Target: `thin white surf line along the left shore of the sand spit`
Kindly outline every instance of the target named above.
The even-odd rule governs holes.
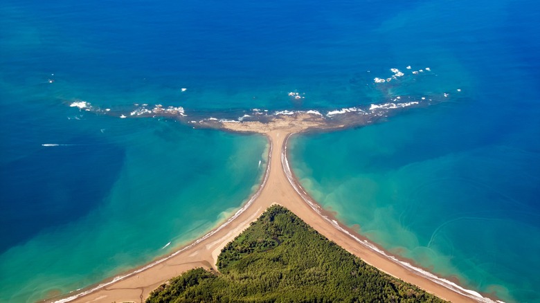
[[[179,253],[183,252],[184,250],[187,250],[189,248],[192,248],[193,246],[196,246],[197,244],[201,243],[202,241],[208,239],[208,237],[213,236],[216,232],[219,232],[219,230],[222,230],[223,228],[228,226],[237,217],[239,217],[240,214],[245,212],[253,204],[253,202],[260,196],[260,193],[264,189],[264,186],[267,184],[268,177],[270,175],[270,166],[271,166],[271,161],[272,161],[272,149],[273,149],[273,142],[272,142],[272,140],[270,138],[268,138],[268,142],[269,142],[268,164],[267,164],[267,170],[266,170],[266,172],[264,172],[263,181],[262,181],[261,185],[259,186],[257,192],[255,192],[255,194],[253,194],[253,196],[251,196],[249,201],[247,201],[247,203],[242,208],[240,208],[240,210],[237,210],[237,212],[235,212],[233,217],[227,219],[227,221],[225,221],[225,223],[223,223],[221,226],[217,227],[215,230],[212,230],[212,231],[208,232],[206,235],[204,235],[203,237],[200,237],[199,239],[195,240],[192,244],[190,244],[188,246],[184,246],[180,250],[177,250],[176,252],[173,252],[171,255],[168,255],[167,257],[163,257],[163,258],[161,258],[161,259],[159,259],[157,261],[154,261],[154,262],[152,262],[150,264],[147,264],[146,266],[138,268],[137,270],[134,270],[131,273],[127,273],[126,275],[116,276],[111,281],[105,282],[105,283],[102,283],[102,284],[98,284],[98,286],[90,288],[88,291],[83,291],[81,293],[71,295],[70,297],[64,297],[64,298],[62,298],[60,300],[56,300],[56,301],[54,301],[54,303],[71,302],[71,301],[73,301],[75,299],[78,299],[79,297],[83,297],[84,295],[89,295],[89,294],[91,294],[91,293],[93,293],[95,291],[99,291],[100,289],[105,288],[105,287],[107,287],[107,286],[109,286],[111,284],[114,284],[114,283],[120,281],[121,279],[125,279],[127,277],[132,277],[134,275],[137,275],[138,273],[142,273],[143,271],[145,271],[145,270],[147,270],[149,268],[152,268],[152,267],[154,267],[154,266],[156,266],[158,264],[161,264],[164,261],[167,261],[168,259],[178,255]],[[163,248],[165,248],[165,247],[163,247]],[[71,293],[73,293],[73,291],[71,291]]]

